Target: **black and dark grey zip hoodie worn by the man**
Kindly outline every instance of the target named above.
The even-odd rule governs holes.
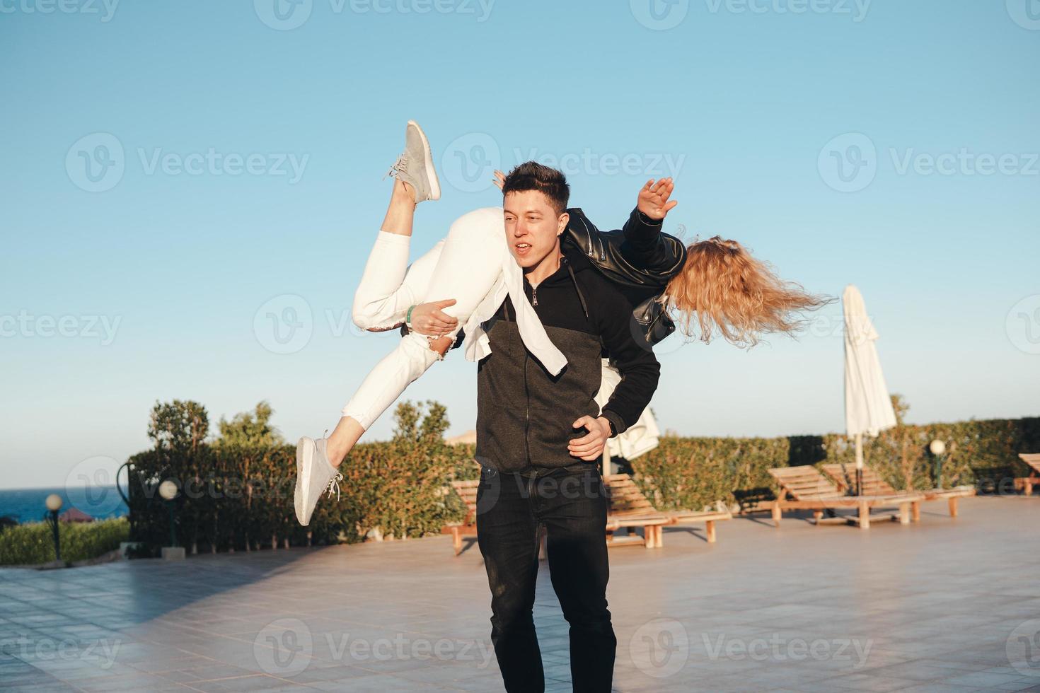
[[[564,244],[560,268],[524,292],[567,366],[552,376],[525,348],[516,311],[506,297],[485,327],[491,354],[477,366],[476,459],[499,472],[529,472],[580,463],[571,439],[588,434],[571,426],[603,416],[617,433],[634,424],[657,388],[660,366],[650,345],[630,327],[625,297],[580,249]],[[601,357],[622,375],[600,414]]]

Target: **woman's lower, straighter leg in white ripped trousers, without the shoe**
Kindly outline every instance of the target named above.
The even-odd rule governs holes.
[[[434,346],[449,345],[480,300],[494,288],[501,272],[502,252],[506,251],[504,243],[499,209],[476,210],[451,224],[425,295],[453,298],[456,303],[444,312],[458,318],[459,326],[442,338],[445,344]],[[425,336],[413,331],[402,338],[368,373],[343,407],[343,416],[329,436],[329,461],[338,467],[361,434],[440,356]]]

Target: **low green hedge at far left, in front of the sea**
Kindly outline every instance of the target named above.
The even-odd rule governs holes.
[[[61,560],[66,562],[97,558],[114,551],[130,535],[126,517],[59,525]],[[0,565],[35,565],[54,559],[54,535],[49,523],[27,523],[0,532]]]

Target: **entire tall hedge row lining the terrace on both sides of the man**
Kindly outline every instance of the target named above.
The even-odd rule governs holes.
[[[900,425],[864,442],[864,459],[896,488],[936,485],[928,445],[946,443],[943,484],[979,484],[983,492],[1010,489],[1022,476],[1017,453],[1040,451],[1040,419],[968,421],[924,426],[903,424],[907,407],[895,397]],[[340,468],[340,496],[322,499],[309,527],[292,508],[295,446],[272,434],[269,407],[256,419],[222,422],[224,435],[206,442],[205,409],[193,402],[157,405],[150,435],[154,449],[131,458],[131,538],[156,555],[168,543],[166,505],[158,483],[182,486],[175,501],[176,533],[189,553],[255,551],[287,545],[406,539],[439,534],[465,516],[452,479],[475,479],[473,445],[448,446],[444,407],[425,411],[406,402],[395,411],[393,439],[357,446]],[[773,498],[773,467],[853,462],[843,435],[707,438],[665,435],[653,451],[632,460],[635,480],[661,510],[700,509],[716,501]]]

